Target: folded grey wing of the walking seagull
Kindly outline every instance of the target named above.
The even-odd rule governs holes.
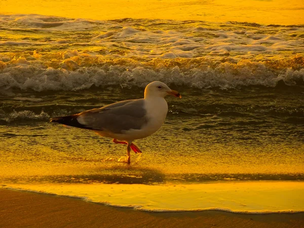
[[[144,99],[125,100],[79,113],[78,122],[99,131],[122,133],[147,123]]]

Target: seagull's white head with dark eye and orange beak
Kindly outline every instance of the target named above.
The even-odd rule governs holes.
[[[175,91],[171,90],[165,83],[162,82],[151,82],[148,84],[144,90],[144,97],[165,97],[171,95],[174,97],[181,98],[181,95]]]

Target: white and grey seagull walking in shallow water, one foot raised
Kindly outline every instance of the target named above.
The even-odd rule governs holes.
[[[167,95],[181,98],[177,91],[155,81],[146,86],[144,98],[119,101],[75,115],[53,118],[50,122],[92,130],[100,136],[112,138],[114,143],[127,144],[126,160],[130,164],[131,149],[141,153],[133,141],[150,136],[163,125],[168,112]]]

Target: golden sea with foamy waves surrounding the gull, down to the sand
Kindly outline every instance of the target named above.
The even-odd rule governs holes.
[[[304,25],[0,15],[0,186],[137,210],[304,211]],[[143,97],[126,145],[49,119]]]

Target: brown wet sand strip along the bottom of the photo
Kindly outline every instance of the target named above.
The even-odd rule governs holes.
[[[147,213],[0,189],[0,227],[303,227],[304,214]]]

